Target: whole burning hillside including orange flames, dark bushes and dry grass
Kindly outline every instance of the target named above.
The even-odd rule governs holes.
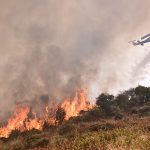
[[[150,149],[150,87],[101,93],[92,108],[86,90],[62,103],[40,99],[40,113],[35,103],[16,106],[0,128],[0,149]]]

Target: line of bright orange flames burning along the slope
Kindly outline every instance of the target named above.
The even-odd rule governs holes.
[[[77,116],[81,110],[88,110],[91,106],[87,100],[87,90],[80,90],[76,92],[73,100],[65,99],[60,106],[66,111],[66,120],[72,116]],[[50,104],[45,107],[44,116],[38,118],[35,112],[33,118],[29,117],[29,106],[17,106],[14,115],[8,119],[7,125],[0,128],[0,137],[8,138],[13,130],[20,132],[29,131],[32,129],[42,130],[44,122],[48,124],[55,123],[55,112],[58,104]]]

